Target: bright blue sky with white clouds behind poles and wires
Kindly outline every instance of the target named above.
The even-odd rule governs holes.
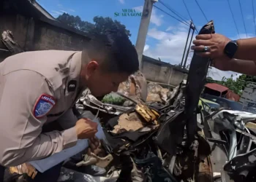
[[[244,21],[241,15],[239,0],[229,0],[233,11],[238,31],[233,22],[233,17],[227,4],[227,0],[197,0],[206,18],[203,16],[200,8],[195,0],[184,0],[189,8],[189,13],[197,27],[197,30],[208,20],[214,20],[217,33],[222,33],[230,39],[246,38],[247,36],[255,36],[254,17],[252,12],[252,0],[240,0],[241,9],[244,14]],[[70,15],[78,15],[82,20],[93,22],[94,16],[112,17],[114,20],[120,21],[126,25],[131,31],[131,41],[135,44],[140,25],[140,16],[115,16],[115,12],[122,12],[122,9],[134,9],[135,12],[141,12],[143,8],[143,0],[38,0],[51,15],[58,17],[63,12]],[[182,0],[162,0],[164,4],[175,9],[187,20],[190,20],[184,3]],[[169,9],[159,2],[155,3],[157,7],[165,12],[173,15]],[[256,5],[256,1],[255,1]],[[255,9],[256,10],[256,9]],[[148,28],[146,46],[144,54],[153,58],[160,58],[162,61],[178,64],[181,63],[185,42],[187,39],[188,27],[178,22],[165,12],[154,8],[151,15],[151,23]],[[176,15],[174,15],[176,16]],[[246,31],[244,29],[246,25]],[[238,34],[239,33],[239,34]],[[191,58],[192,52],[189,55]],[[188,62],[189,63],[189,62]],[[211,71],[215,79],[221,79],[222,76],[229,77],[231,72],[223,72],[214,69]]]

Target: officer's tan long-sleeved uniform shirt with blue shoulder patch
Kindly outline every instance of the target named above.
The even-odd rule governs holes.
[[[0,164],[20,165],[75,146],[81,52],[35,51],[0,63]],[[64,131],[41,133],[59,119]]]

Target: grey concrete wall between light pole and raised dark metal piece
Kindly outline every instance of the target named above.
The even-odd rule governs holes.
[[[177,86],[183,79],[187,79],[187,71],[168,63],[143,56],[142,72],[146,79]]]

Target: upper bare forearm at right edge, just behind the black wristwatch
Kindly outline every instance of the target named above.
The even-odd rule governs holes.
[[[256,60],[256,38],[238,39],[238,50],[234,58],[241,60]]]

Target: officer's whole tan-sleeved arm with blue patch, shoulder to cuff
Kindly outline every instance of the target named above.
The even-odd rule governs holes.
[[[44,77],[33,71],[15,71],[0,84],[1,165],[20,165],[75,146],[75,127],[41,133],[46,111],[55,105],[54,93]]]

